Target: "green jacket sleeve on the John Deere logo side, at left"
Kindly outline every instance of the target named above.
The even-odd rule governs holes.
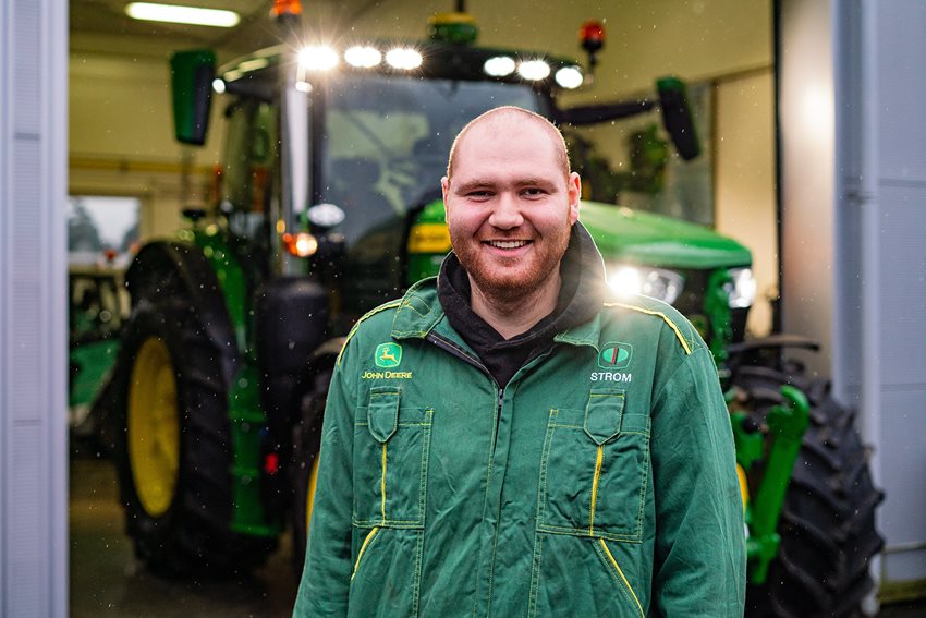
[[[334,368],[325,408],[308,547],[293,609],[293,616],[300,618],[348,613],[356,396],[345,383],[345,374],[352,375],[346,356],[343,354]]]

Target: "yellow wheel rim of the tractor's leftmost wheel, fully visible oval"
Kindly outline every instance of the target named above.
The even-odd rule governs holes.
[[[170,508],[180,469],[180,414],[170,352],[156,337],[135,356],[129,387],[129,463],[142,508],[160,517]]]

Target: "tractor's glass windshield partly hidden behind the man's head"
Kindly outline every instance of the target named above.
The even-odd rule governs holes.
[[[329,82],[316,199],[344,209],[348,246],[439,197],[453,137],[502,105],[547,111],[526,84],[385,75]]]

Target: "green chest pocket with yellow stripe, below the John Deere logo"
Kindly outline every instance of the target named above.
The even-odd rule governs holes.
[[[357,410],[354,525],[424,528],[434,410],[401,399],[399,387],[377,386]]]

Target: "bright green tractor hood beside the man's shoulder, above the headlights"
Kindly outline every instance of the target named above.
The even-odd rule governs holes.
[[[695,269],[752,264],[750,250],[705,226],[600,202],[582,202],[580,220],[606,262]]]

